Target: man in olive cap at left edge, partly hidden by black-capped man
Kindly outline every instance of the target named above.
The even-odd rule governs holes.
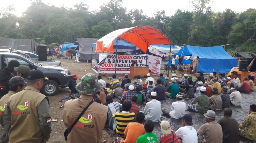
[[[1,99],[0,99],[0,124],[2,126],[3,125],[3,117],[4,117],[4,111],[5,111],[5,108],[7,107],[7,102],[9,100],[9,98],[15,94],[15,93],[18,93],[20,91],[22,91],[25,86],[27,85],[27,82],[25,82],[25,80],[22,78],[22,77],[12,77],[9,81],[9,93],[7,93],[6,95],[4,95]],[[1,131],[3,134],[2,136],[0,137],[0,143],[7,143],[8,140],[7,140],[7,135],[5,130],[2,129]]]

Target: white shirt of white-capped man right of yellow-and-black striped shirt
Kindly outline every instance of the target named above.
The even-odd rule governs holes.
[[[161,102],[152,99],[150,102],[146,103],[143,113],[145,114],[145,120],[151,120],[153,122],[160,121]]]

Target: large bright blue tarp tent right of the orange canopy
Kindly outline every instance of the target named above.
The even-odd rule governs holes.
[[[213,71],[228,73],[231,68],[237,65],[238,61],[238,59],[230,56],[222,46],[198,47],[186,45],[176,55],[199,56],[201,62],[198,62],[197,72],[203,73]]]

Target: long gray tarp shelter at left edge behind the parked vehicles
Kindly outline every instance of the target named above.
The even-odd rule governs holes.
[[[0,49],[16,49],[23,51],[34,51],[34,39],[11,39],[0,37]]]

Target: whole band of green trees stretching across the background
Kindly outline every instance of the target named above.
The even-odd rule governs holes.
[[[228,51],[256,52],[256,10],[236,13],[230,9],[214,13],[211,0],[189,0],[193,11],[178,9],[173,15],[164,10],[148,17],[142,9],[122,6],[124,0],[109,0],[98,9],[80,2],[73,8],[56,7],[42,0],[31,5],[21,17],[10,5],[0,10],[0,37],[41,38],[38,43],[75,41],[74,37],[101,38],[120,29],[150,25],[165,33],[174,44],[216,46],[232,43]]]

